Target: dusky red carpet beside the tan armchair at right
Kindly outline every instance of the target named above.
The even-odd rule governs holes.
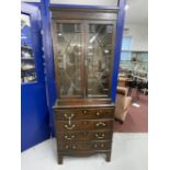
[[[115,122],[114,132],[122,133],[147,133],[148,132],[148,95],[139,94],[136,102],[139,107],[131,105],[129,112],[123,124]]]

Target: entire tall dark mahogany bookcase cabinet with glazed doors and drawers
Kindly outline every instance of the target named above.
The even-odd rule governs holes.
[[[116,12],[52,8],[58,163],[64,156],[93,154],[111,160]]]

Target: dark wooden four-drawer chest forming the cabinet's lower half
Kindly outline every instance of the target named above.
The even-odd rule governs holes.
[[[105,154],[111,159],[114,106],[55,106],[58,163],[64,156]]]

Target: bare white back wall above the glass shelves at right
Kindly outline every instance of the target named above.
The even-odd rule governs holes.
[[[124,35],[133,37],[132,50],[148,52],[148,26],[144,24],[126,24]]]

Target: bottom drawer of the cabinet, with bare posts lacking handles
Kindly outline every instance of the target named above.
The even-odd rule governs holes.
[[[92,150],[110,150],[111,141],[76,141],[76,143],[58,143],[59,151],[92,151]]]

